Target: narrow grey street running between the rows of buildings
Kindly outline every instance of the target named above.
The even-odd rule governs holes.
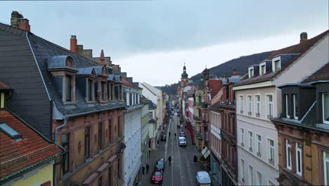
[[[165,133],[167,135],[167,142],[160,141],[156,151],[151,151],[149,165],[150,170],[143,175],[142,185],[153,185],[151,183],[151,174],[157,159],[172,157],[172,165],[169,166],[167,161],[164,168],[164,178],[162,185],[164,186],[178,186],[178,185],[196,185],[195,175],[200,170],[198,164],[193,163],[193,156],[201,155],[191,142],[191,136],[186,134],[187,147],[179,147],[179,129],[176,128],[179,123],[177,113],[174,113],[173,118],[166,125]],[[171,133],[169,137],[169,132]],[[174,133],[176,132],[176,139]],[[186,133],[186,129],[184,128]],[[144,165],[145,166],[145,165]]]

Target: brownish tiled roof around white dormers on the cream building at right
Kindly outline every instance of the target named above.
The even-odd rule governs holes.
[[[326,30],[325,32],[321,33],[320,35],[317,35],[316,37],[313,37],[311,39],[307,39],[304,42],[301,42],[299,44],[295,44],[292,46],[285,47],[283,49],[279,49],[276,51],[273,51],[269,57],[266,58],[266,60],[271,60],[272,58],[275,58],[276,56],[279,56],[281,54],[290,54],[289,60],[285,61],[285,65],[281,64],[281,69],[278,70],[278,72],[273,73],[272,69],[269,69],[266,71],[264,75],[254,75],[254,77],[247,78],[245,77],[243,80],[238,82],[236,86],[240,85],[250,85],[252,83],[257,82],[264,82],[267,80],[272,80],[274,77],[277,77],[282,73],[286,68],[288,68],[292,63],[297,61],[297,59],[302,56],[306,51],[308,51],[312,46],[314,46],[317,42],[319,42],[321,39],[323,39],[326,35],[329,34],[329,30]],[[258,61],[255,61],[258,62]],[[262,61],[261,61],[262,62]]]

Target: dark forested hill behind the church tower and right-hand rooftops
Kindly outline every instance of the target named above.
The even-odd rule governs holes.
[[[218,66],[214,66],[209,68],[210,77],[225,77],[232,75],[233,69],[236,69],[238,75],[243,75],[247,73],[248,67],[253,64],[258,64],[260,61],[266,59],[272,51],[266,51],[259,54],[252,54],[250,56],[240,56],[239,58],[233,58],[230,61],[226,61],[225,63],[221,63]],[[190,77],[190,80],[193,80],[191,85],[198,85],[199,88],[202,88],[202,72],[197,75],[193,75]],[[160,87],[166,94],[172,95],[176,94],[176,89],[179,86],[179,83],[174,83],[172,85],[166,85],[164,87]]]

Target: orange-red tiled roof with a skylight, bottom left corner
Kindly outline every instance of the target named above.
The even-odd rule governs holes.
[[[15,141],[0,130],[0,181],[11,178],[20,171],[34,168],[36,163],[62,152],[62,149],[45,140],[10,112],[0,110],[0,119],[22,135],[22,140]]]

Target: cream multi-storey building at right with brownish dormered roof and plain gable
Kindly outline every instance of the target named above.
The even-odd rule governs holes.
[[[273,51],[266,60],[250,66],[244,80],[233,87],[240,185],[279,184],[278,131],[270,120],[282,111],[278,85],[301,81],[321,68],[328,63],[326,51],[328,31],[311,39],[302,33],[299,44]]]

